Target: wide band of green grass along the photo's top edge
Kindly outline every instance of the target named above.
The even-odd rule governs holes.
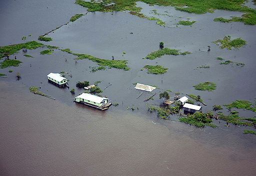
[[[100,2],[91,0],[75,0],[79,4],[87,8],[87,11],[130,11],[137,16],[141,15],[140,7],[136,7],[138,0],[102,0]],[[215,9],[240,11],[244,12],[240,19],[244,24],[256,24],[256,10],[243,5],[244,0],[140,0],[149,5],[164,5],[174,6],[177,10],[186,11],[189,13],[202,14],[206,12],[213,12]],[[112,3],[112,4],[110,4]]]

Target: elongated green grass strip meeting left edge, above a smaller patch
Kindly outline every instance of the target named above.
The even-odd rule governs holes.
[[[17,53],[20,49],[23,49],[23,48],[36,49],[41,46],[43,46],[43,44],[38,43],[36,41],[28,41],[26,43],[2,46],[2,47],[0,47],[0,55],[1,55],[1,57],[3,57],[6,54],[11,55],[11,54]]]

